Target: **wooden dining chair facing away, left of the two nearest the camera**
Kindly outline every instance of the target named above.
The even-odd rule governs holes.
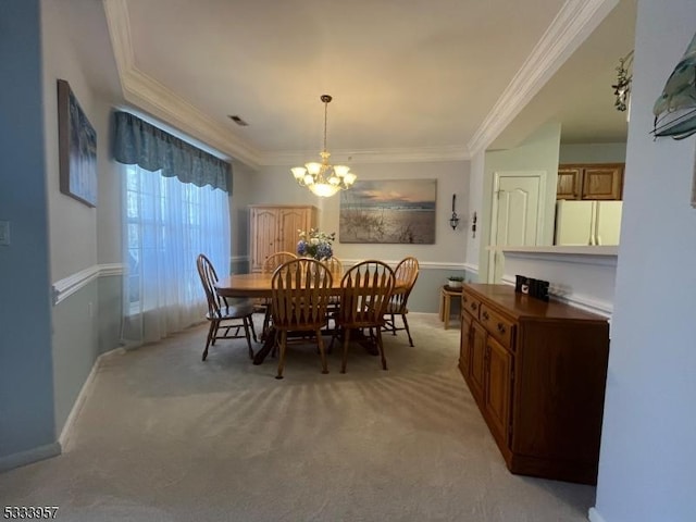
[[[294,259],[273,272],[271,313],[276,344],[281,351],[275,378],[283,378],[289,332],[314,335],[322,360],[322,373],[328,373],[321,331],[328,323],[326,310],[332,285],[331,272],[314,259]]]

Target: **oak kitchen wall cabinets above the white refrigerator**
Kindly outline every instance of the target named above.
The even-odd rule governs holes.
[[[559,165],[556,199],[620,200],[623,169],[623,163]]]

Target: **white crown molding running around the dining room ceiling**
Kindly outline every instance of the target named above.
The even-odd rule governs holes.
[[[409,149],[334,151],[353,164],[465,161],[481,152],[508,126],[560,65],[597,27],[619,0],[568,0],[522,67],[514,75],[469,144]],[[302,162],[311,152],[262,152],[233,135],[206,113],[135,65],[127,0],[103,0],[109,35],[123,96],[191,137],[253,170]]]

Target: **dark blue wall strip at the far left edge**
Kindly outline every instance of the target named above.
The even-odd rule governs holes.
[[[0,469],[54,433],[39,0],[0,0]],[[34,460],[34,459],[29,459]]]

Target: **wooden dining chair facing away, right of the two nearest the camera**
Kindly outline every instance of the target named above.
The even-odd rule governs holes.
[[[344,274],[340,281],[340,307],[336,315],[337,328],[332,337],[332,345],[338,333],[344,338],[340,373],[346,373],[351,331],[369,331],[371,340],[380,349],[382,369],[387,369],[382,330],[385,324],[384,312],[394,291],[395,281],[391,268],[376,260],[362,261]]]

